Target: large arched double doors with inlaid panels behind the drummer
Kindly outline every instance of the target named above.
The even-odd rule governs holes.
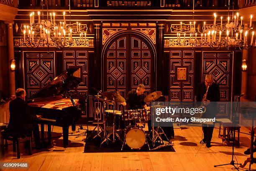
[[[120,33],[103,49],[103,89],[126,97],[131,89],[144,84],[145,93],[155,89],[155,51],[138,33]],[[118,104],[116,109],[121,109]]]

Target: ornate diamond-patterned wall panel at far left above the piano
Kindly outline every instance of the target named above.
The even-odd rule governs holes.
[[[23,51],[24,88],[31,97],[55,77],[55,53]]]

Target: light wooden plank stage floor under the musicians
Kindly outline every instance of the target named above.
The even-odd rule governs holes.
[[[230,163],[232,157],[232,147],[222,144],[217,128],[214,129],[210,148],[216,153],[202,147],[197,156],[195,154],[200,148],[202,128],[189,127],[174,131],[176,152],[83,153],[82,140],[85,137],[69,136],[68,148],[62,148],[61,138],[56,138],[52,140],[52,147],[33,150],[32,156],[27,155],[28,151],[22,144],[20,159],[16,159],[16,153],[12,152],[12,145],[9,145],[8,151],[1,156],[1,161],[29,163],[28,169],[17,169],[18,171],[232,171],[231,165],[214,168],[214,165]],[[53,132],[54,135],[61,135],[61,128],[54,127]],[[248,130],[241,128],[241,132],[248,133]],[[235,148],[234,160],[243,163],[249,157],[243,151],[249,147],[250,136],[240,133],[240,141],[240,147]],[[249,164],[246,165],[247,169],[248,167]],[[256,169],[256,164],[252,168]]]

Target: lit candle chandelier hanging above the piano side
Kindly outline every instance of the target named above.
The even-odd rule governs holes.
[[[46,4],[48,4],[47,0]],[[81,26],[81,24],[78,22],[71,24],[70,20],[69,24],[67,24],[65,12],[63,12],[63,20],[59,20],[60,22],[57,23],[55,20],[55,13],[50,13],[49,16],[48,5],[46,16],[47,19],[45,20],[43,0],[41,1],[41,5],[42,15],[40,11],[37,12],[37,22],[35,21],[35,13],[32,12],[29,15],[30,24],[23,26],[23,45],[33,48],[37,48],[38,46],[56,46],[58,48],[63,48],[65,46],[72,46],[73,44],[76,46],[86,45],[86,25]],[[69,17],[70,16],[71,12],[69,5]]]

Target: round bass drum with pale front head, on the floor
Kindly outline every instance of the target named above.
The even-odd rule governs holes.
[[[141,149],[146,143],[146,134],[141,127],[132,125],[125,131],[125,142],[131,149]]]

